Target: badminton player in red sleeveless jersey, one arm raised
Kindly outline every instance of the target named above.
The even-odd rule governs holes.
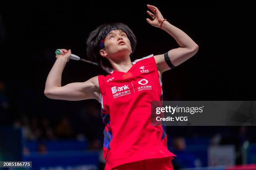
[[[165,126],[151,125],[151,101],[163,100],[161,74],[188,60],[198,45],[182,30],[170,24],[159,9],[147,5],[152,20],[147,22],[174,37],[180,47],[161,55],[148,55],[131,62],[136,37],[123,23],[100,25],[87,39],[87,55],[107,76],[61,87],[61,74],[71,50],[61,49],[46,80],[45,95],[51,99],[96,99],[101,103],[105,123],[103,156],[105,170],[172,170],[173,153],[167,150]]]

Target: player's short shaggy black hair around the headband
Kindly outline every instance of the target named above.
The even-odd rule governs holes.
[[[104,23],[90,32],[90,35],[86,41],[88,58],[94,62],[97,62],[100,67],[108,67],[109,69],[113,69],[113,67],[107,58],[100,55],[100,41],[104,39],[113,28],[122,30],[126,33],[131,42],[132,53],[130,56],[132,56],[136,48],[137,40],[133,31],[123,23]]]

